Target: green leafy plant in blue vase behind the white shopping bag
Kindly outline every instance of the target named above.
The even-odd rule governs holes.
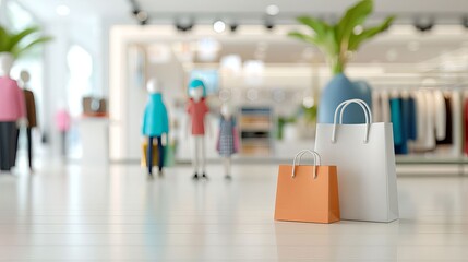
[[[395,16],[386,17],[381,24],[364,27],[364,22],[373,11],[373,0],[361,0],[349,8],[335,24],[321,19],[300,16],[298,22],[311,29],[310,34],[290,32],[289,36],[316,46],[326,57],[333,79],[322,92],[317,121],[332,123],[335,108],[339,103],[360,98],[371,105],[371,90],[367,84],[352,83],[345,74],[345,69],[351,55],[367,40],[386,31]],[[353,111],[345,115],[348,123],[362,122],[362,114]]]

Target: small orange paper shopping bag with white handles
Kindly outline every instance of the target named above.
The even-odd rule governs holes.
[[[300,166],[305,153],[313,155],[313,166]],[[279,166],[276,221],[314,223],[339,221],[336,166],[321,166],[320,163],[316,152],[303,150],[296,155],[292,166]]]

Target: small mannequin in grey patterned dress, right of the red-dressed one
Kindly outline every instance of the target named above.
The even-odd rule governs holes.
[[[227,104],[221,106],[221,117],[219,121],[219,135],[217,151],[224,158],[225,178],[231,179],[231,156],[239,151],[239,136],[236,128],[236,118],[231,108]]]

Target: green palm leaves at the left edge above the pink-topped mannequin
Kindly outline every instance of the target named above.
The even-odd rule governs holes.
[[[52,39],[41,36],[39,31],[39,27],[29,27],[13,33],[0,25],[0,53],[8,53],[14,59],[19,59],[32,48]]]

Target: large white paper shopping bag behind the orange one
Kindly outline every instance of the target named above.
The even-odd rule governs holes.
[[[341,124],[343,114],[350,104],[361,106],[365,123]],[[315,151],[324,159],[323,165],[337,166],[341,219],[398,218],[392,123],[373,123],[365,102],[346,100],[336,108],[333,124],[319,123]]]

